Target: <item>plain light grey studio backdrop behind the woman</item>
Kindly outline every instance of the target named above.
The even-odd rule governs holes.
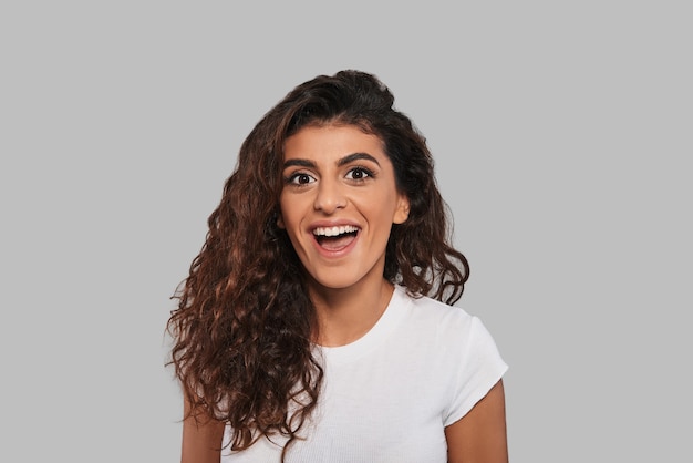
[[[0,461],[177,461],[169,297],[251,127],[348,68],[434,153],[510,460],[691,461],[687,3],[404,3],[0,6]]]

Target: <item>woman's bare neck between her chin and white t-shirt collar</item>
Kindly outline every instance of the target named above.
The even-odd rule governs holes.
[[[387,308],[393,290],[385,279],[342,289],[311,287],[310,298],[318,318],[316,343],[345,346],[364,336]]]

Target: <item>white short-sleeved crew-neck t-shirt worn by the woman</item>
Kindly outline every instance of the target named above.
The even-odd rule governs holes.
[[[318,347],[324,385],[287,463],[445,463],[444,428],[463,418],[507,364],[478,318],[395,287],[375,326],[342,347]],[[225,443],[229,439],[229,429]],[[279,463],[281,438],[221,463]]]

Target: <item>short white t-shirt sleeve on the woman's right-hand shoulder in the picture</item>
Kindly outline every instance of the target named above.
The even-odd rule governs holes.
[[[453,361],[449,405],[444,411],[443,424],[453,424],[462,419],[503,378],[508,366],[500,357],[495,340],[477,317],[456,336],[457,348],[451,349]]]

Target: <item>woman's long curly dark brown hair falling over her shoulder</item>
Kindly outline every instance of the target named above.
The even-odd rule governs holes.
[[[393,103],[372,74],[319,75],[265,114],[240,147],[167,323],[174,339],[169,364],[189,413],[230,424],[232,450],[281,435],[288,439],[286,454],[300,439],[323,380],[301,263],[277,226],[287,137],[325,124],[354,125],[380,137],[396,186],[410,200],[407,220],[391,232],[384,278],[414,297],[453,305],[462,296],[469,266],[451,245],[452,224],[431,153]]]

